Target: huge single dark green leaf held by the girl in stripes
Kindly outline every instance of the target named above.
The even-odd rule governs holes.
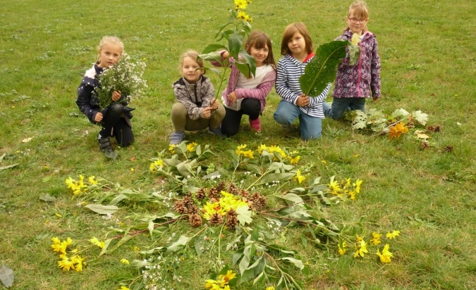
[[[299,78],[301,91],[306,96],[319,96],[329,82],[336,79],[337,65],[346,57],[348,41],[335,40],[322,44]]]

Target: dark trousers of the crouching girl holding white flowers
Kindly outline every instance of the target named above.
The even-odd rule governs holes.
[[[130,121],[123,116],[123,112],[124,106],[120,103],[112,103],[102,118],[102,129],[99,134],[102,137],[112,137],[112,133],[119,146],[127,147],[133,143],[134,134]]]

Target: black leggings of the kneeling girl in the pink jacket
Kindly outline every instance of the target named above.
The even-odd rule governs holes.
[[[236,135],[240,129],[241,117],[249,115],[250,120],[260,118],[261,103],[258,99],[243,99],[241,101],[241,110],[234,111],[226,108],[225,118],[221,121],[221,132],[227,137]]]

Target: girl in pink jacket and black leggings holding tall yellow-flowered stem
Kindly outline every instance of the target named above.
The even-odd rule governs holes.
[[[266,97],[276,80],[276,65],[269,36],[254,31],[245,42],[245,50],[255,58],[255,75],[245,76],[235,65],[231,67],[228,86],[221,95],[226,114],[221,122],[221,132],[230,137],[240,129],[241,117],[248,115],[252,130],[261,132],[260,115],[266,106]],[[229,58],[228,51],[221,53]]]

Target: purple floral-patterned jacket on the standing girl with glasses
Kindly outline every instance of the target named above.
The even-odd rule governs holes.
[[[352,39],[347,30],[337,39]],[[355,65],[348,65],[349,56],[338,65],[334,98],[373,98],[380,97],[380,58],[377,39],[370,31],[364,33],[359,42],[360,58]],[[370,94],[372,91],[372,94]]]

